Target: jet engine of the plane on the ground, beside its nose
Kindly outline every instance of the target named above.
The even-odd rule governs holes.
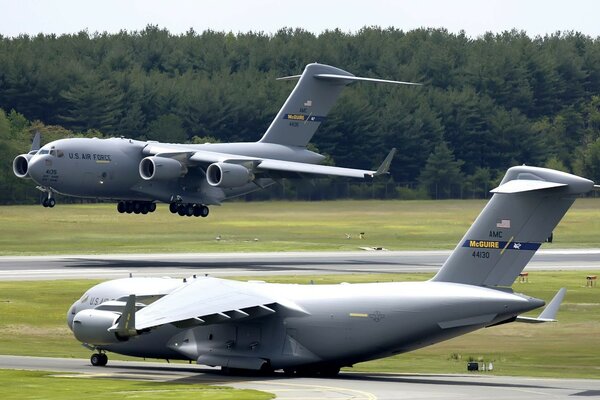
[[[82,343],[103,345],[122,342],[121,338],[108,328],[117,323],[121,314],[93,308],[79,311],[73,318],[73,334]]]

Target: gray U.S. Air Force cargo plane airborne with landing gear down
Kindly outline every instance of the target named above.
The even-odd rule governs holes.
[[[319,165],[324,156],[306,148],[342,89],[353,82],[416,83],[361,78],[309,64],[262,138],[254,143],[169,144],[125,138],[61,139],[18,155],[13,172],[47,193],[118,200],[120,213],[147,214],[156,202],[181,216],[208,215],[209,205],[272,185],[282,177],[370,178],[387,173],[395,149],[374,171]]]

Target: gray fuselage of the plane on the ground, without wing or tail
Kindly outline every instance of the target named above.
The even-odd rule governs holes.
[[[215,278],[197,278],[215,279]],[[70,308],[77,313],[94,299],[114,300],[161,280],[129,278],[105,282]],[[193,281],[191,279],[190,281]],[[181,281],[180,281],[181,282]],[[188,283],[181,283],[186,285]],[[253,368],[269,360],[274,369],[307,365],[350,366],[425,347],[541,307],[544,302],[506,291],[443,282],[287,285],[248,282],[249,288],[285,297],[307,314],[277,310],[247,321],[178,328],[163,325],[126,342],[98,349],[137,357],[194,360],[207,365]],[[474,301],[476,300],[476,301]],[[109,324],[111,324],[109,322]],[[105,329],[108,328],[105,327]],[[104,331],[104,330],[103,330]],[[92,335],[98,335],[95,331]],[[103,334],[100,334],[103,335]],[[75,332],[83,342],[97,337]],[[110,340],[110,339],[109,339]],[[256,363],[256,364],[254,364]]]

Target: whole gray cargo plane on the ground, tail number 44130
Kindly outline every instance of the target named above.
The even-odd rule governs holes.
[[[555,320],[511,285],[593,182],[527,166],[509,169],[450,257],[427,282],[290,285],[212,277],[125,278],[89,289],[67,312],[75,337],[107,351],[229,369],[335,375],[480,328]]]

